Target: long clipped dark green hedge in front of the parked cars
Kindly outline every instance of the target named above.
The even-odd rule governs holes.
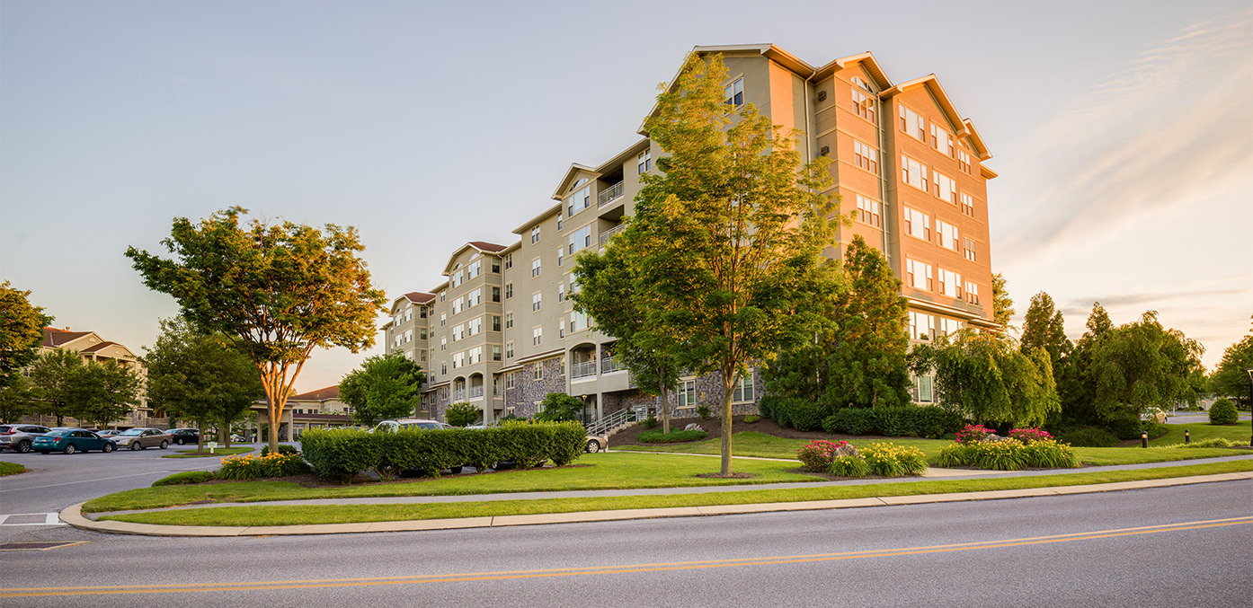
[[[365,470],[392,479],[415,470],[437,477],[441,470],[470,465],[484,470],[499,462],[539,467],[548,460],[563,467],[586,445],[579,423],[507,423],[486,429],[367,433],[346,429],[311,429],[301,435],[304,460],[326,479],[351,480]]]

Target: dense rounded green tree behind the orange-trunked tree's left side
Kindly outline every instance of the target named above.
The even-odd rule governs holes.
[[[162,319],[153,348],[144,347],[148,400],[172,417],[195,420],[204,429],[218,427],[218,439],[231,445],[231,425],[242,418],[264,390],[252,360],[222,334],[198,332],[187,319]]]

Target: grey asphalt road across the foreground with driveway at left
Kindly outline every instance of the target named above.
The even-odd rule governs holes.
[[[79,502],[83,488],[98,484],[139,487],[170,470],[212,465],[152,452],[127,463],[135,477],[107,479],[120,475],[101,470],[95,482],[60,485],[56,492],[75,493],[60,502]],[[94,455],[43,457],[50,458],[79,465]],[[30,492],[54,490],[40,487],[54,480],[31,483],[40,474],[16,479],[28,475]],[[3,479],[8,505],[21,492],[9,492],[15,478]],[[26,539],[83,544],[0,553],[0,604],[1253,605],[1250,482],[323,537],[153,538],[59,528],[29,527]]]

